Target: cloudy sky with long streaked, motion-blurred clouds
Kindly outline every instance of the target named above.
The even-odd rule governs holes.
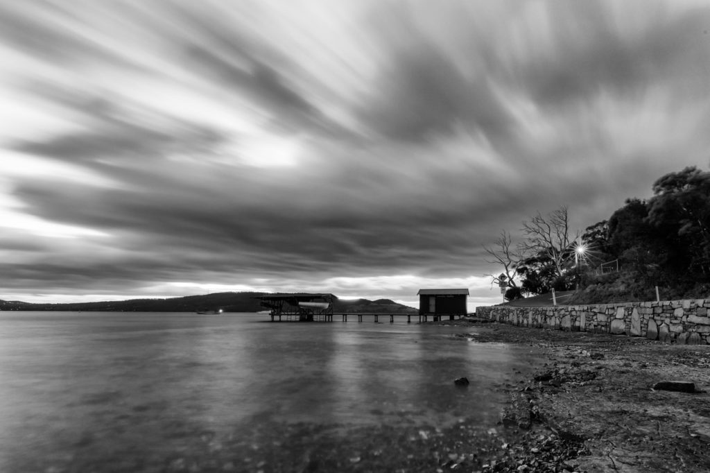
[[[483,246],[710,165],[710,2],[0,0],[0,299],[502,301]]]

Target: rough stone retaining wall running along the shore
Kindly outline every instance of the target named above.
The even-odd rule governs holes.
[[[547,307],[492,305],[476,308],[476,317],[522,327],[626,334],[665,343],[708,344],[709,308],[710,299]]]

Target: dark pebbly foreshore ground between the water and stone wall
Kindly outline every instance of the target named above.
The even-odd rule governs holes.
[[[460,325],[462,342],[526,344],[547,358],[533,379],[505,387],[508,443],[474,471],[710,472],[710,345],[440,323]],[[695,392],[653,390],[659,381],[691,381]]]

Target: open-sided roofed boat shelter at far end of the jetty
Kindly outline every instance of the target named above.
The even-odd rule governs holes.
[[[329,293],[277,293],[257,297],[261,307],[269,310],[271,321],[300,320],[333,320],[333,298]]]

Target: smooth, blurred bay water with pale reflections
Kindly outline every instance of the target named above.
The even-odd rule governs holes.
[[[530,363],[461,327],[266,320],[1,312],[0,471],[327,471],[326,450],[356,469],[364,442],[495,425]]]

